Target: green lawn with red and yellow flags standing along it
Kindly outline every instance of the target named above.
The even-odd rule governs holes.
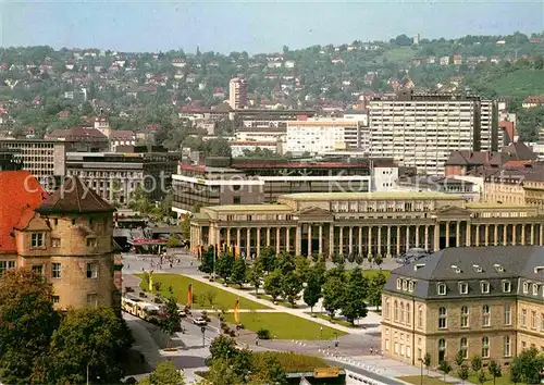
[[[143,278],[143,274],[136,274],[138,277]],[[194,309],[210,309],[211,306],[208,301],[202,303],[201,299],[203,299],[203,294],[206,291],[211,291],[215,294],[215,298],[213,301],[213,306],[215,308],[225,307],[226,310],[232,310],[234,305],[236,303],[237,296],[235,294],[222,290],[218,287],[205,284],[200,281],[195,281],[184,275],[180,274],[153,274],[153,283],[161,283],[161,291],[160,294],[164,297],[170,295],[169,287],[172,287],[172,291],[174,293],[174,297],[177,299],[180,303],[187,303],[187,290],[189,284],[193,284],[193,308]],[[144,281],[140,283],[140,288],[147,289],[144,287]],[[239,297],[239,308],[240,309],[270,309],[269,307],[254,302],[249,299]]]

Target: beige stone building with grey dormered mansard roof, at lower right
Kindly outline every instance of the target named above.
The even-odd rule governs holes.
[[[445,249],[392,275],[382,294],[382,351],[422,365],[460,351],[506,365],[544,350],[544,248]]]

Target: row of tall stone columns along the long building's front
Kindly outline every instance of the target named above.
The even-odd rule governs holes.
[[[543,245],[544,239],[544,225],[539,224],[471,224],[467,221],[445,221],[441,223],[445,225],[444,240],[445,247],[455,246],[507,246],[518,244],[518,226],[521,226],[521,237],[519,239],[520,245],[535,245],[536,236],[539,245]],[[424,225],[383,225],[383,226],[334,226],[329,225],[329,254],[332,254],[334,250],[344,252],[347,248],[349,253],[355,251],[358,247],[359,251],[363,245],[363,232],[367,234],[366,245],[370,248],[378,248],[379,253],[385,256],[399,254],[403,246],[405,250],[411,247],[423,248],[425,250],[438,250],[441,248],[441,224],[424,224]],[[308,227],[306,240],[307,240],[307,251],[308,254],[312,252],[318,252],[319,254],[324,254],[324,236],[325,228],[324,224],[306,224]],[[465,226],[466,234],[462,237],[461,225]],[[490,227],[492,226],[492,227]],[[503,226],[503,237],[499,238],[499,226]],[[527,228],[530,226],[529,228]],[[401,228],[405,227],[405,228]],[[455,228],[455,234],[452,234],[452,227]],[[483,227],[483,228],[482,228]],[[443,227],[442,227],[443,228]],[[511,232],[508,229],[511,228]],[[251,240],[254,239],[255,251],[257,254],[263,246],[275,247],[276,252],[285,250],[287,252],[294,251],[296,254],[301,254],[301,244],[302,244],[302,225],[297,226],[283,226],[283,227],[223,227],[226,229],[226,234],[221,237],[220,228],[217,224],[211,224],[208,233],[208,244],[219,245],[226,241],[227,245],[236,245],[238,249],[242,248],[242,232],[245,232],[245,248],[247,252],[251,250]],[[252,229],[256,232],[256,237],[252,238]],[[336,236],[337,229],[338,236]],[[235,234],[232,234],[235,231]],[[265,244],[261,245],[262,232],[265,234]],[[292,232],[295,233],[295,245],[292,250]],[[347,232],[347,234],[345,233]],[[396,245],[393,245],[392,238],[396,232]],[[413,233],[412,233],[413,232]],[[529,233],[529,239],[527,239],[527,232]],[[272,245],[271,234],[275,233],[275,245]],[[483,233],[483,234],[482,234]],[[509,238],[508,235],[511,234]],[[347,245],[344,246],[344,241],[347,235]],[[413,237],[411,237],[413,235]],[[453,236],[452,236],[453,235]],[[483,239],[481,239],[483,235]],[[403,237],[404,236],[404,237]],[[317,237],[317,249],[313,249],[313,238]],[[375,239],[374,239],[375,237]],[[234,239],[233,239],[234,238]],[[463,239],[461,239],[463,238]],[[509,238],[509,239],[508,239]],[[200,226],[190,227],[190,239],[191,243],[196,241],[197,245],[202,245],[202,229]],[[355,240],[357,239],[357,244]],[[455,240],[454,240],[455,239]],[[336,241],[337,240],[337,241]],[[375,243],[374,243],[375,240]],[[382,243],[385,245],[382,245]],[[453,244],[455,241],[455,244]],[[432,243],[432,245],[431,245]],[[453,244],[453,245],[452,245]],[[356,246],[357,245],[357,246]],[[338,247],[335,247],[338,246]],[[283,248],[282,248],[283,247]],[[393,247],[396,247],[393,250]]]

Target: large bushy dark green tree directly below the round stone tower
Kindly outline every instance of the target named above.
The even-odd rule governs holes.
[[[107,384],[123,376],[121,358],[132,345],[126,325],[109,308],[69,310],[53,333],[49,350],[48,384]]]

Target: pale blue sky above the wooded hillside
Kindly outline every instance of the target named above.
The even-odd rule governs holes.
[[[312,45],[544,32],[544,0],[0,0],[0,46],[281,51]]]

